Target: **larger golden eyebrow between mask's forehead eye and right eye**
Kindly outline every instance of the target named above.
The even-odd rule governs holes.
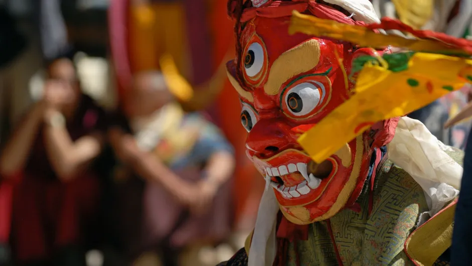
[[[264,91],[269,95],[276,95],[287,80],[316,67],[319,57],[319,43],[315,39],[284,52],[272,64]]]

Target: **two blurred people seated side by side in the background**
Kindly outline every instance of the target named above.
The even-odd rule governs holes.
[[[19,265],[76,265],[94,246],[111,265],[154,250],[177,265],[189,243],[227,240],[232,147],[159,72],[136,75],[127,98],[105,113],[70,59],[47,66],[0,156],[2,243]]]

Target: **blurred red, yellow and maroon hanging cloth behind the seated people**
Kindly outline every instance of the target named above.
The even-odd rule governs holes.
[[[226,1],[125,0],[110,4],[110,48],[119,98],[125,98],[133,74],[161,70],[160,59],[169,54],[177,71],[194,87],[195,98],[184,108],[206,110],[233,145],[237,160],[231,191],[234,240],[241,246],[253,229],[264,179],[246,156],[247,132],[234,122],[240,119],[241,103],[221,69],[225,55],[234,51]],[[221,82],[218,69],[223,72]]]

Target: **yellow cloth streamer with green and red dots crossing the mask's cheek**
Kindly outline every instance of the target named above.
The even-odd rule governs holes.
[[[356,83],[356,94],[305,132],[298,142],[321,163],[343,144],[378,121],[421,108],[472,80],[472,60],[416,53],[408,69],[393,72],[367,63]]]

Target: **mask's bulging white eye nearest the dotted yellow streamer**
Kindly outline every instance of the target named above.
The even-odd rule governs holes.
[[[310,81],[298,84],[285,94],[287,110],[295,116],[307,115],[323,101],[325,93],[321,82]]]

